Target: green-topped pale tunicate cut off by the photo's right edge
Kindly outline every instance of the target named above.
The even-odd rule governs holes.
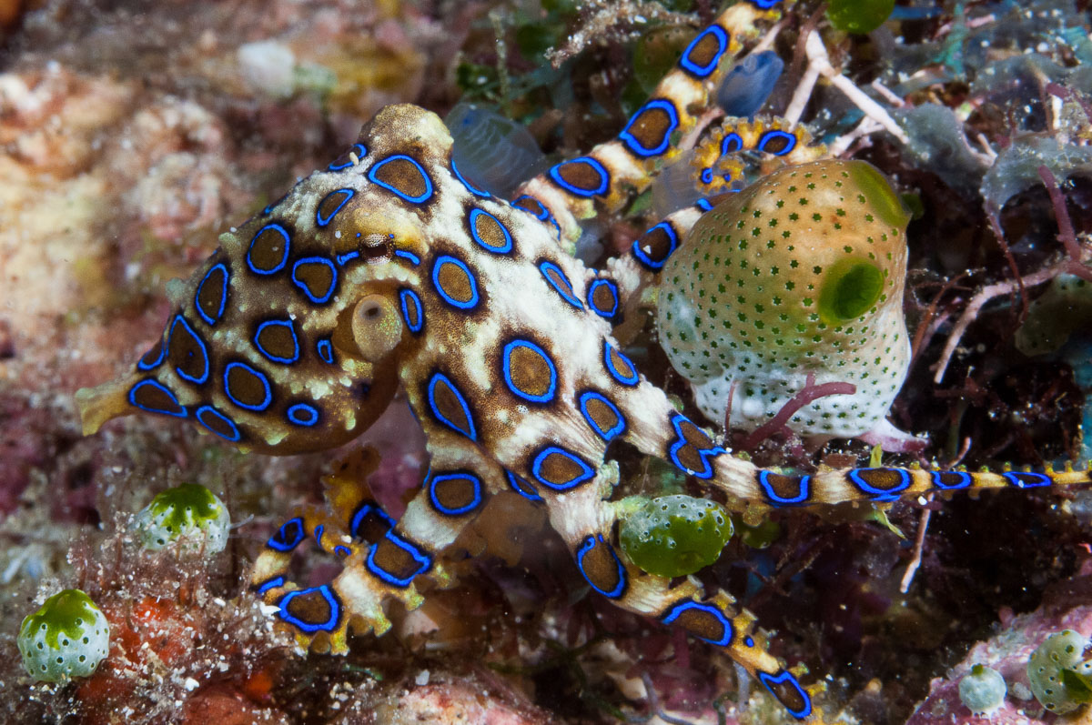
[[[1031,691],[1044,708],[1056,714],[1092,702],[1092,661],[1084,658],[1089,641],[1071,629],[1052,634],[1028,662]]]

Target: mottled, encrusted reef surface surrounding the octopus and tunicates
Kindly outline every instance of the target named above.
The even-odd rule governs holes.
[[[294,507],[321,503],[320,477],[345,451],[242,454],[151,417],[85,438],[73,404],[159,334],[168,280],[341,154],[384,105],[488,108],[456,144],[471,158],[500,148],[511,154],[501,166],[530,176],[541,158],[521,134],[551,159],[612,138],[715,5],[0,2],[0,720],[792,722],[713,647],[594,596],[561,539],[522,509],[475,530],[464,548],[484,554],[453,564],[454,589],[392,613],[392,632],[357,638],[347,657],[300,657],[247,591],[247,570]],[[885,462],[1092,456],[1089,10],[910,1],[852,34],[800,2],[772,39],[784,71],[763,112],[793,107],[818,28],[836,70],[794,112],[828,147],[887,174],[913,212],[912,357],[890,419],[927,440]],[[901,135],[869,126],[834,75]],[[486,123],[496,135],[483,141]],[[497,183],[520,180],[508,173]],[[603,254],[646,228],[646,201],[602,219]],[[651,318],[627,352],[702,419]],[[870,454],[860,440],[784,430],[729,443],[802,471]],[[346,449],[365,444],[382,456],[369,483],[397,516],[427,466],[408,408],[396,402]],[[634,494],[681,486],[633,450],[619,462]],[[230,510],[223,552],[134,542],[133,514],[183,483]],[[1092,492],[781,511],[736,528],[701,577],[776,630],[778,656],[806,664],[820,684],[816,722],[1057,722],[1025,667],[1051,633],[1092,635]],[[297,563],[305,582],[333,571],[318,556]],[[110,656],[90,678],[33,684],[19,623],[70,586],[110,621]],[[1008,682],[988,718],[957,692],[975,664]]]

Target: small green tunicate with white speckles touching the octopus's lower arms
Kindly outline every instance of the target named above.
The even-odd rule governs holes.
[[[626,516],[621,548],[638,567],[661,577],[682,577],[716,561],[732,538],[732,519],[713,501],[661,496]]]

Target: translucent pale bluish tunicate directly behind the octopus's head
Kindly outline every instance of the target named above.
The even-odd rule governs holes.
[[[486,106],[460,103],[443,122],[454,142],[452,162],[474,187],[508,198],[546,167],[531,132]]]

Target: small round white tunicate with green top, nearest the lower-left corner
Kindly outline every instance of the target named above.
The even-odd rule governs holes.
[[[64,590],[46,599],[19,628],[23,666],[39,682],[87,677],[110,649],[106,617],[80,590]]]

